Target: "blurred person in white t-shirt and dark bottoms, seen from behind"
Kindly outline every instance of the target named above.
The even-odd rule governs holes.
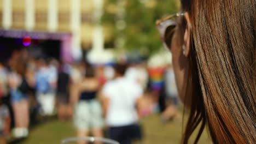
[[[124,77],[126,66],[115,65],[115,79],[102,89],[103,111],[109,127],[109,138],[122,144],[141,139],[136,106],[143,94],[142,87]]]

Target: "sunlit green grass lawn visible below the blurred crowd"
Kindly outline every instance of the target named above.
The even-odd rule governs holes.
[[[182,136],[182,119],[173,119],[168,123],[162,123],[158,115],[152,115],[141,121],[144,139],[143,144],[155,143],[180,143]],[[72,122],[49,121],[38,125],[31,130],[30,136],[21,143],[26,144],[51,144],[60,143],[67,137],[74,137],[75,129]],[[195,137],[195,136],[193,136]],[[193,137],[191,139],[193,139]],[[192,142],[191,142],[192,143]],[[211,143],[206,131],[204,131],[199,143]]]

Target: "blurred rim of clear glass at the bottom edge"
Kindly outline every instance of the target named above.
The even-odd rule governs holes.
[[[120,144],[117,141],[100,138],[100,137],[71,137],[65,140],[62,140],[61,144],[72,144],[78,142],[87,142],[87,143],[102,143],[102,144]]]

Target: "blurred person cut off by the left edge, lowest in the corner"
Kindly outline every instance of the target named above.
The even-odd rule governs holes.
[[[7,143],[6,137],[9,135],[10,131],[10,121],[8,107],[4,105],[2,99],[0,99],[0,143]]]

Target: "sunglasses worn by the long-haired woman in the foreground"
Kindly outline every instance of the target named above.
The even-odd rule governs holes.
[[[174,33],[174,29],[176,27],[177,17],[184,16],[184,13],[177,13],[173,15],[168,15],[166,17],[162,17],[156,21],[156,27],[160,32],[162,42],[164,43],[164,47],[168,50],[171,46],[171,40]]]

